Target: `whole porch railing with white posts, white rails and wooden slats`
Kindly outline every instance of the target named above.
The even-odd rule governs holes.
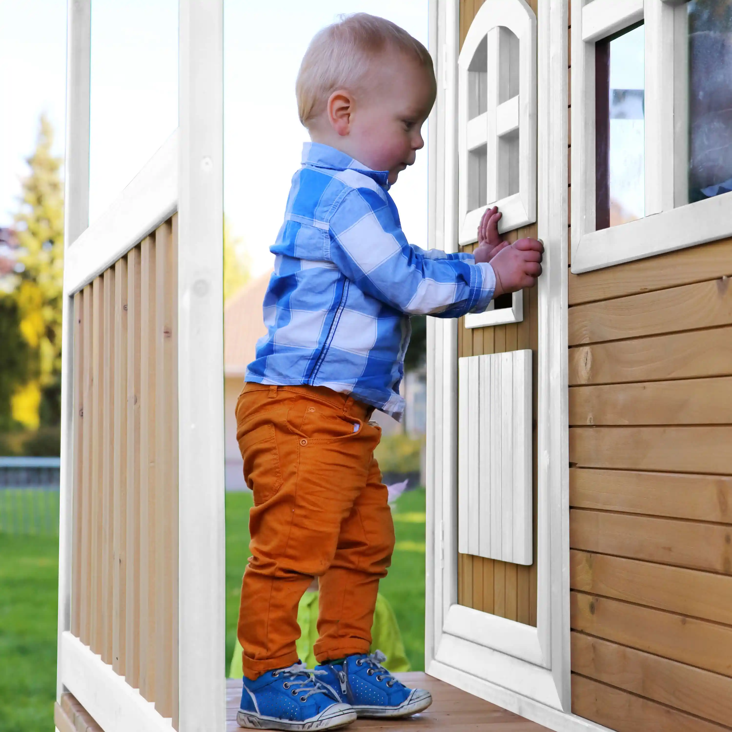
[[[223,731],[223,4],[180,0],[179,127],[89,226],[91,4],[68,3],[57,701]]]

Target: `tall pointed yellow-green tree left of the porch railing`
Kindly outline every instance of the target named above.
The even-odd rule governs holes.
[[[12,416],[37,429],[56,422],[61,389],[61,310],[64,290],[64,189],[61,158],[51,154],[53,127],[40,118],[36,149],[26,162],[15,228],[24,269],[14,296],[20,335],[29,349],[27,378],[12,397]]]

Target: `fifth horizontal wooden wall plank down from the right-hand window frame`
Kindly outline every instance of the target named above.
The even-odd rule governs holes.
[[[587,468],[732,473],[732,425],[572,427],[569,461]]]

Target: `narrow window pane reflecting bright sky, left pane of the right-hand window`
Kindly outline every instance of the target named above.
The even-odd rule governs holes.
[[[645,215],[643,25],[595,45],[598,229]]]

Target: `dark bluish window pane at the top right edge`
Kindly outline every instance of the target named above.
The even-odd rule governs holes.
[[[692,0],[689,202],[732,190],[732,1]]]

